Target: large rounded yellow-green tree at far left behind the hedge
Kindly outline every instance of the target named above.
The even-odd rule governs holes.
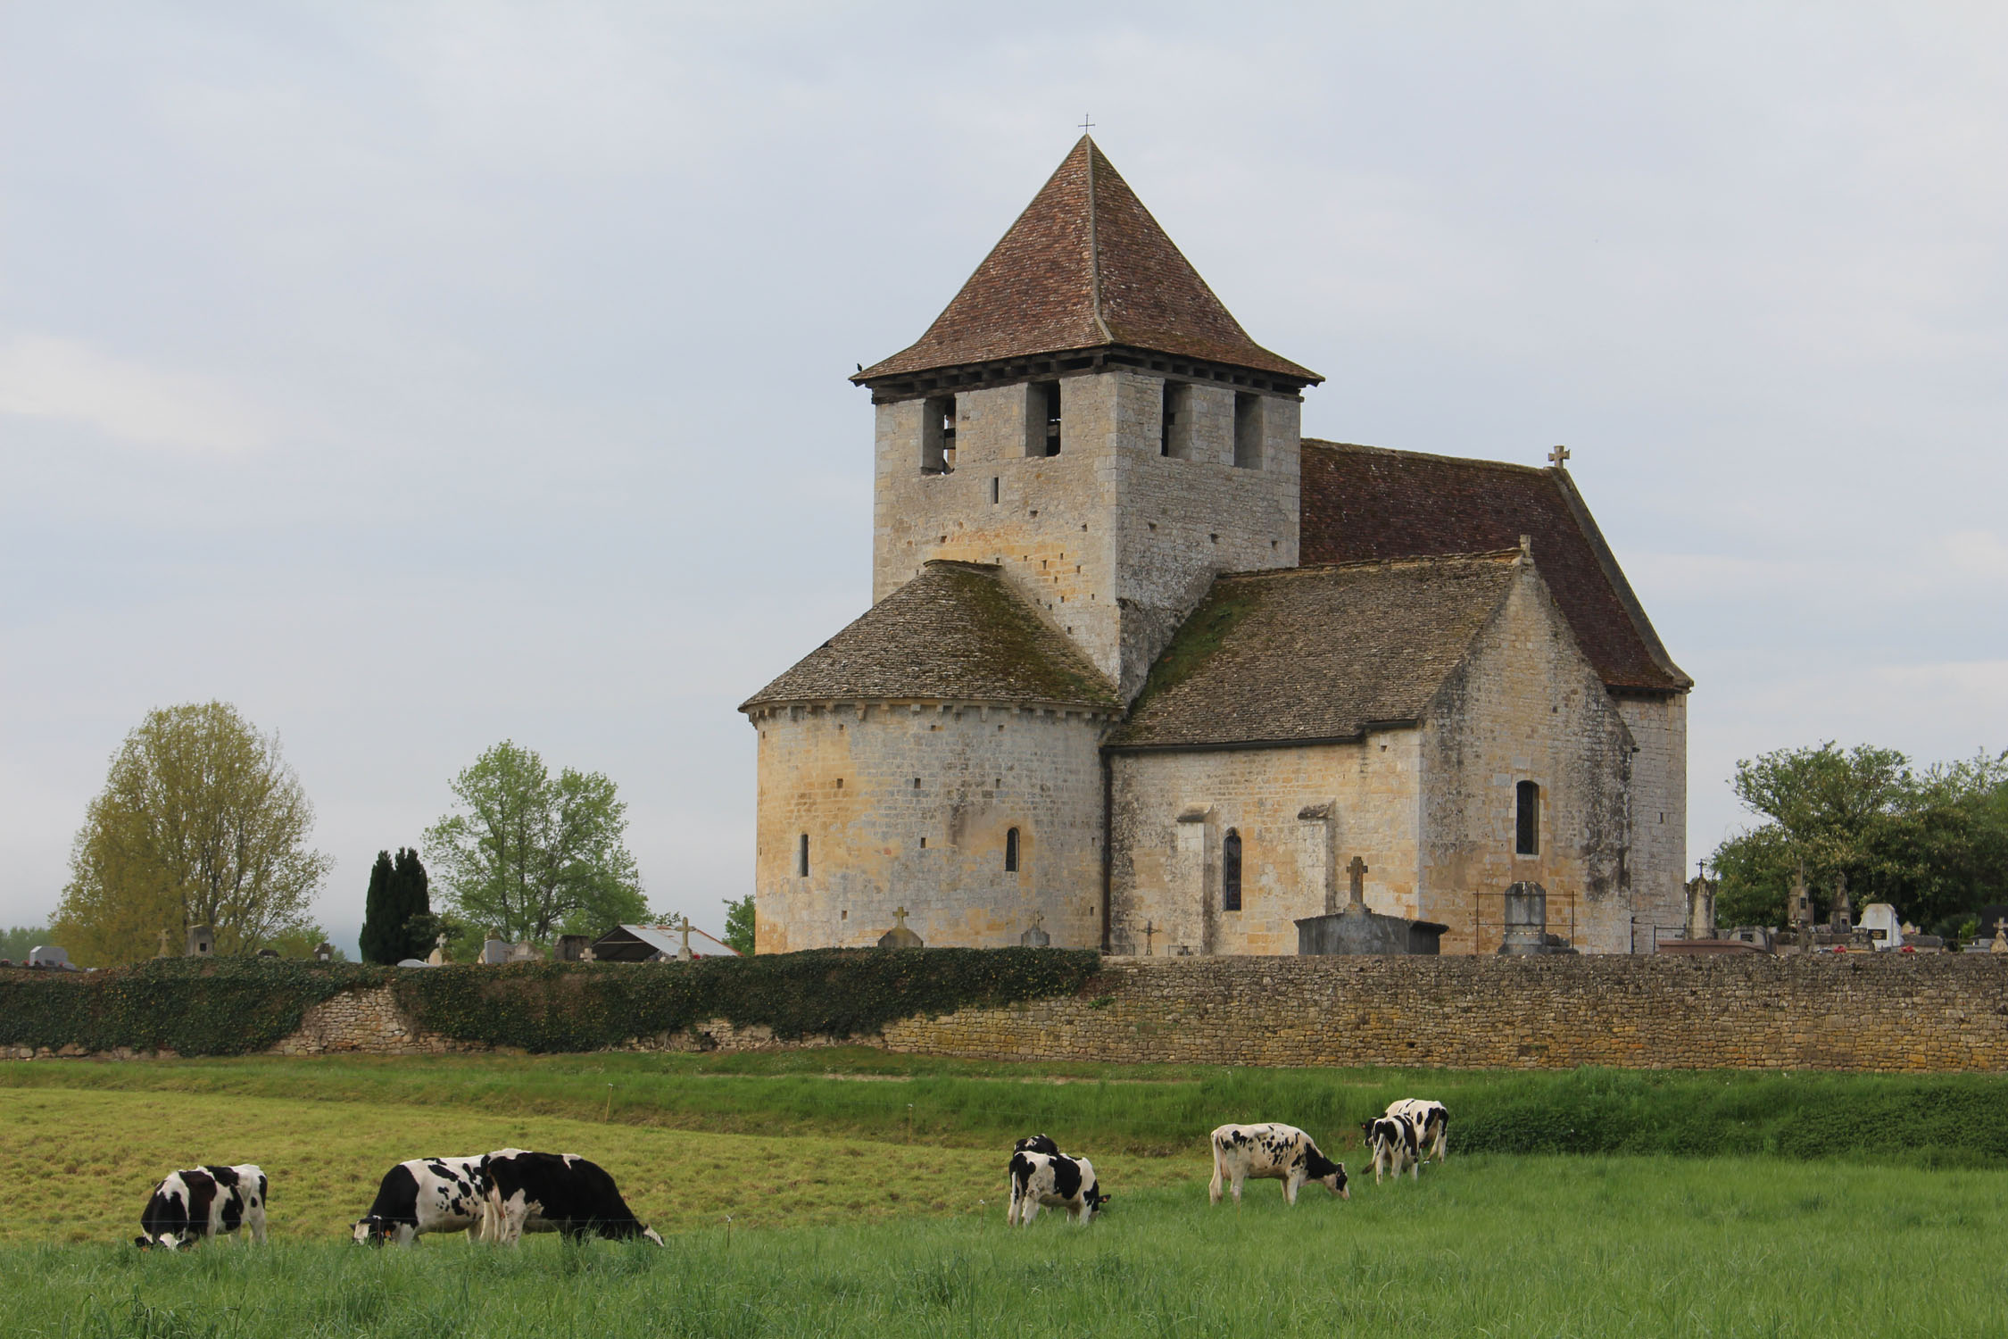
[[[52,933],[80,964],[179,954],[213,925],[219,954],[253,954],[307,919],[329,859],[307,847],[313,805],[279,755],[229,703],[147,713],[112,755],[70,847]]]

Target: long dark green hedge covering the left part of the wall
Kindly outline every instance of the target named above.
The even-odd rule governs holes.
[[[811,950],[691,964],[367,968],[165,958],[112,972],[0,972],[0,1048],[241,1056],[307,1010],[390,986],[424,1032],[532,1052],[602,1050],[715,1018],[779,1040],[871,1038],[902,1018],[1080,992],[1090,950]]]

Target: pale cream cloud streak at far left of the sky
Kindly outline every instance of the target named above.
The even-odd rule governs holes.
[[[249,452],[267,440],[261,416],[219,381],[50,335],[0,345],[0,414],[88,424],[120,442],[191,452]]]

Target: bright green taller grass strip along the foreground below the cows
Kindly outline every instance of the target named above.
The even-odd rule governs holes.
[[[1088,1229],[990,1207],[667,1251],[8,1249],[0,1297],[12,1333],[64,1339],[2008,1333],[2000,1170],[1486,1154],[1295,1211],[1114,1190]]]

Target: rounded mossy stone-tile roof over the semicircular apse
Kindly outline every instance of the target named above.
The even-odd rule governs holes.
[[[1108,679],[998,568],[940,560],[739,709],[861,699],[1120,707]]]

